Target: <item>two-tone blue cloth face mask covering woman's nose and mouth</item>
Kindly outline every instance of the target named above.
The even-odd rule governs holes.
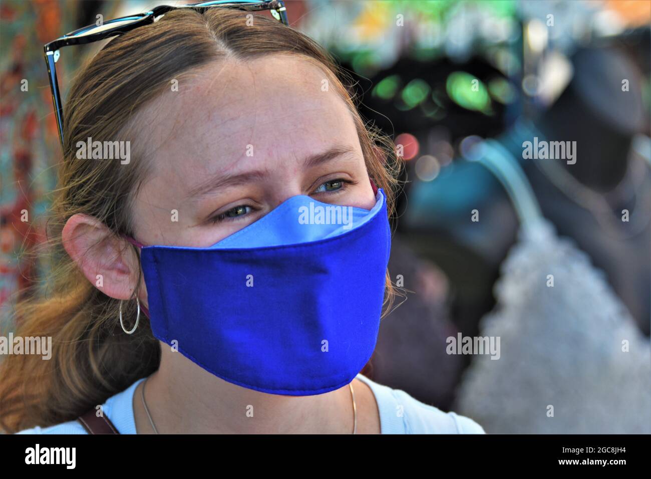
[[[300,195],[208,248],[138,246],[154,336],[229,383],[322,394],[370,360],[391,248],[381,189],[371,210]]]

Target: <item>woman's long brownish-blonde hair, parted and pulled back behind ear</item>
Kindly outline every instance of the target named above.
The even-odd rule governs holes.
[[[146,162],[137,161],[139,152],[133,151],[136,161],[119,168],[111,162],[79,160],[74,145],[88,137],[137,136],[137,111],[168,89],[172,79],[199,66],[226,55],[251,59],[278,53],[301,55],[330,77],[353,115],[368,173],[387,194],[393,215],[399,168],[395,145],[361,119],[352,81],[311,38],[262,16],[247,25],[245,12],[227,8],[204,14],[174,10],[114,38],[82,68],[68,94],[63,161],[44,244],[49,274],[41,287],[36,283],[21,293],[12,312],[14,336],[51,336],[52,356],[10,355],[0,362],[0,429],[12,433],[74,420],[159,366],[159,343],[147,319],[141,315],[136,332],[124,334],[120,301],[83,276],[61,240],[63,226],[76,213],[94,216],[115,235],[133,236],[130,212],[139,185],[146,181]],[[388,271],[386,283],[383,315],[395,295]],[[127,324],[134,324],[135,301],[124,303],[123,314]]]

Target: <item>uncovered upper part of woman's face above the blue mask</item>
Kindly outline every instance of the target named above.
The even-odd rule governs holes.
[[[133,205],[135,237],[211,246],[300,194],[371,209],[352,115],[326,79],[290,55],[219,61],[143,110],[151,170]]]

